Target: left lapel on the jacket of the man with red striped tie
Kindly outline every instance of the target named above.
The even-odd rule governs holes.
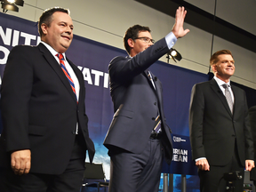
[[[45,60],[47,60],[48,64],[52,67],[52,69],[60,77],[62,84],[64,84],[64,86],[67,88],[70,96],[73,98],[73,100],[76,101],[76,95],[72,91],[72,88],[68,82],[68,78],[67,78],[67,76],[65,76],[62,69],[60,68],[60,64],[52,56],[52,53],[49,52],[49,50],[44,46],[44,44],[38,44],[38,49],[40,50],[40,52],[43,53]],[[68,61],[68,63],[69,63],[69,61]]]

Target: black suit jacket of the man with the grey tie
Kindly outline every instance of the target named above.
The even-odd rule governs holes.
[[[233,115],[214,79],[195,84],[192,89],[189,109],[192,156],[206,157],[210,166],[228,164],[235,144],[242,165],[245,159],[253,159],[245,92],[234,85],[231,88],[235,98]]]

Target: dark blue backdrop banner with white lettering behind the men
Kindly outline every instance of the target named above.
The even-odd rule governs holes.
[[[0,83],[2,83],[5,63],[12,47],[17,44],[36,45],[40,42],[40,38],[36,22],[4,13],[0,13],[0,19]],[[182,50],[180,52],[182,53]],[[104,164],[107,178],[109,158],[107,148],[102,143],[114,114],[108,88],[108,62],[117,55],[126,56],[127,53],[81,36],[74,36],[67,52],[68,59],[72,60],[84,74],[86,114],[89,117],[90,137],[96,148],[94,162]],[[164,164],[163,172],[196,174],[195,163],[191,161],[188,137],[188,108],[192,86],[206,81],[208,76],[161,61],[157,61],[150,70],[163,84],[165,117],[173,132],[174,156],[171,166]]]

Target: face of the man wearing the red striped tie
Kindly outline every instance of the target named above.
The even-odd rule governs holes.
[[[42,41],[52,46],[57,52],[66,52],[73,39],[73,21],[65,12],[54,12],[49,26],[42,24]]]

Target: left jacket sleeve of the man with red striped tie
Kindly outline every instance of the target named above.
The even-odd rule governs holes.
[[[30,148],[28,106],[33,86],[33,67],[28,47],[16,46],[10,52],[1,86],[1,113],[6,150]]]

